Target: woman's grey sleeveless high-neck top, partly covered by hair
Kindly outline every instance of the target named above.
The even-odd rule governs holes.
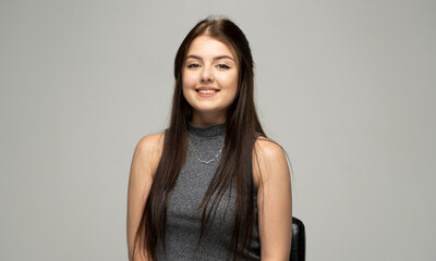
[[[168,202],[166,227],[166,254],[161,241],[157,244],[157,259],[161,260],[226,260],[232,237],[235,190],[226,191],[218,204],[210,228],[204,234],[195,251],[203,208],[197,209],[218,167],[226,137],[226,124],[209,127],[189,125],[189,147],[185,163],[179,174]],[[218,154],[218,156],[217,156]],[[198,159],[199,158],[199,159]],[[210,163],[202,163],[210,161]],[[257,191],[256,191],[257,192]],[[256,195],[255,195],[256,202]],[[256,203],[255,203],[256,204]],[[246,260],[261,260],[259,238],[256,225],[253,229],[252,247]]]

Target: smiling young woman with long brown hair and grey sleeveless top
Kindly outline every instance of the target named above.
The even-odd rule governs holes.
[[[244,34],[201,21],[174,77],[169,127],[142,138],[132,160],[130,260],[289,260],[290,173],[256,114]]]

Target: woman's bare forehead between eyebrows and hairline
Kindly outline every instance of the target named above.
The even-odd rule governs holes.
[[[207,35],[198,36],[191,42],[187,50],[187,55],[190,54],[204,58],[229,55],[234,59],[233,53],[225,44]]]

